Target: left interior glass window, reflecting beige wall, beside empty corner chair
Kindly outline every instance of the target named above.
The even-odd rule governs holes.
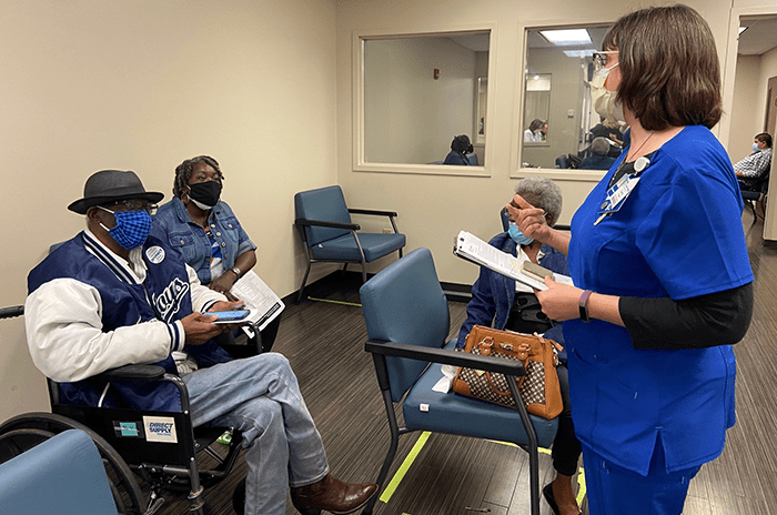
[[[362,38],[363,163],[484,165],[491,31]]]

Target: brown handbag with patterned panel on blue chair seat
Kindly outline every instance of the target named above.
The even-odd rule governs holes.
[[[526,375],[517,378],[516,384],[526,411],[544,418],[555,418],[563,410],[556,375],[556,351],[559,349],[558,343],[542,336],[475,325],[466,337],[464,352],[522,362]],[[507,378],[503,374],[461,367],[453,381],[453,391],[515,408]]]

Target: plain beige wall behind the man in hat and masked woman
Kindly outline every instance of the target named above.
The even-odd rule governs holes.
[[[299,287],[293,194],[336,182],[334,24],[333,0],[4,1],[0,305],[23,303],[29,270],[82,229],[65,208],[90,173],[132,169],[169,199],[175,165],[203,153],[256,272]],[[24,342],[21,320],[0,321],[0,421],[48,410]]]

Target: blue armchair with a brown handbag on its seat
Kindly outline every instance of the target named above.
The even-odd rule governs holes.
[[[532,515],[538,515],[537,450],[551,446],[557,420],[528,415],[514,381],[508,384],[518,410],[432,390],[443,377],[443,364],[515,377],[525,374],[523,364],[455,352],[456,340],[445,341],[450,329],[447,300],[428,249],[416,249],[390,264],[362,285],[360,294],[369,337],[365,350],[373,356],[391,431],[379,486],[389,475],[402,435],[430,431],[511,442],[528,453]],[[394,411],[394,404],[400,403],[403,427]],[[373,497],[363,513],[371,514],[376,499]]]

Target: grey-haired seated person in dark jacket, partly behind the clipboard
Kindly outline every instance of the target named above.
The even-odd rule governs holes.
[[[552,180],[522,179],[516,184],[515,192],[524,199],[532,199],[532,205],[544,210],[544,220],[548,226],[556,224],[562,212],[562,192]],[[564,254],[549,245],[543,245],[539,241],[524,236],[513,221],[509,222],[508,231],[495,235],[488,243],[516,256],[522,262],[528,260],[555,273],[564,275],[569,273]],[[481,266],[480,276],[472,286],[472,300],[467,304],[466,313],[467,319],[458,331],[457,349],[464,349],[466,336],[473,325],[493,326],[517,333],[544,334],[545,337],[564,344],[561,324],[549,320],[541,311],[534,291],[486,266]],[[543,488],[543,494],[553,513],[576,515],[579,508],[572,489],[572,477],[577,472],[581,443],[575,437],[569,411],[566,352],[562,351],[559,361],[557,372],[564,410],[558,416],[558,432],[553,441],[552,457],[556,478]]]

